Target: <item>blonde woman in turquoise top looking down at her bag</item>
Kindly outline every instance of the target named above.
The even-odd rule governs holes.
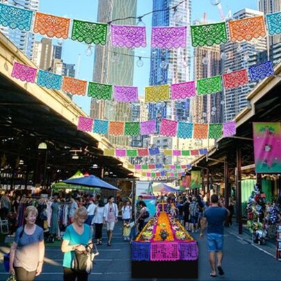
[[[63,280],[87,281],[88,273],[78,272],[72,269],[72,262],[74,259],[74,250],[83,252],[86,250],[85,246],[89,245],[92,248],[92,232],[90,225],[87,225],[88,214],[85,207],[78,207],[74,212],[73,223],[67,226],[65,235],[62,241],[63,257]]]

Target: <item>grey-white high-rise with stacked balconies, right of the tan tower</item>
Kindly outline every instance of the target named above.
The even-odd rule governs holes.
[[[245,19],[264,15],[257,10],[243,9],[233,15],[233,19]],[[266,38],[259,37],[241,43],[227,42],[221,45],[221,52],[225,53],[223,73],[247,69],[259,62],[259,54],[266,50]],[[230,121],[247,106],[246,96],[255,87],[255,83],[248,83],[232,90],[225,90],[225,121]]]

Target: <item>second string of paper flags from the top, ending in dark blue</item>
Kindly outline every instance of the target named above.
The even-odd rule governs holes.
[[[281,14],[280,14],[281,15]],[[14,62],[12,77],[27,83],[36,83],[41,87],[53,90],[62,90],[68,94],[92,97],[97,100],[119,103],[137,103],[139,101],[138,88],[134,86],[107,85],[88,82],[67,76],[60,76],[49,71],[22,65]],[[269,60],[248,69],[233,71],[222,76],[214,76],[194,81],[176,83],[171,85],[148,86],[145,88],[146,103],[160,101],[180,101],[196,95],[214,94],[225,89],[237,88],[249,82],[258,82],[268,76],[274,75],[273,64]],[[37,79],[36,79],[37,78]]]

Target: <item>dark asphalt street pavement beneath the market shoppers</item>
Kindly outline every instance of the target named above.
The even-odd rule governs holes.
[[[216,278],[212,278],[210,277],[206,238],[200,239],[199,233],[191,233],[191,236],[198,241],[199,246],[198,280],[281,280],[281,262],[275,259],[274,248],[251,244],[247,235],[237,235],[237,228],[233,227],[225,230],[225,258],[223,259],[225,275],[217,275]],[[99,256],[94,260],[94,270],[89,280],[141,281],[130,278],[130,244],[123,241],[121,222],[115,228],[111,247],[106,244],[105,229],[103,237],[103,245],[97,246]],[[8,278],[8,273],[3,269],[3,253],[8,253],[8,250],[8,247],[0,246],[0,280]],[[178,271],[185,271],[185,269],[180,268]],[[187,279],[188,275],[187,271]],[[62,276],[60,247],[47,246],[43,272],[36,280],[62,280]],[[160,281],[160,279],[146,280]]]

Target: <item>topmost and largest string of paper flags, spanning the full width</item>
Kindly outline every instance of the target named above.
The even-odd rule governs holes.
[[[250,41],[253,38],[281,33],[281,12],[264,16],[237,19],[229,22],[191,26],[192,46],[212,46],[231,42]],[[46,35],[86,44],[105,45],[108,31],[112,46],[138,48],[145,47],[146,27],[126,26],[107,23],[85,22],[78,19],[58,17],[33,10],[26,10],[0,3],[0,25],[9,26],[20,31],[32,31]],[[267,27],[267,28],[266,28]],[[227,32],[227,28],[229,33]],[[187,46],[187,26],[152,27],[151,47],[160,49],[185,48]]]

